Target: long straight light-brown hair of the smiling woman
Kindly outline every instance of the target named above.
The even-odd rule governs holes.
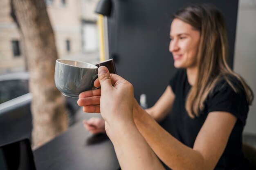
[[[243,85],[247,103],[250,105],[254,94],[243,78],[227,65],[228,40],[225,21],[220,11],[208,4],[197,4],[178,11],[174,18],[190,24],[200,31],[200,44],[197,53],[198,75],[186,98],[186,111],[194,118],[204,109],[204,101],[216,84],[225,79],[237,93],[239,88],[230,81],[235,77]],[[207,70],[207,71],[206,71]]]

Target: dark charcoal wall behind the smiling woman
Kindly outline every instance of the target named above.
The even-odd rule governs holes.
[[[211,3],[222,11],[229,38],[228,63],[233,66],[238,0],[112,0],[108,18],[110,58],[117,74],[134,85],[135,98],[147,95],[154,105],[174,74],[168,51],[171,15],[191,3]]]

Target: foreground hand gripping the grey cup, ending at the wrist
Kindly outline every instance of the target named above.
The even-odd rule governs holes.
[[[108,123],[112,121],[133,121],[133,86],[121,76],[110,74],[106,67],[98,69],[101,85],[101,116]]]

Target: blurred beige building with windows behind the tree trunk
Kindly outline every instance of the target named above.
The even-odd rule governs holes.
[[[98,55],[97,15],[94,14],[97,1],[45,0],[59,58]],[[1,0],[0,73],[25,71],[22,39],[10,13],[10,0]]]

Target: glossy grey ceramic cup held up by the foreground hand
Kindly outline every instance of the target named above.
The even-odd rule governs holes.
[[[98,67],[90,63],[74,60],[56,60],[55,85],[63,95],[78,97],[81,92],[94,89],[98,78]]]

